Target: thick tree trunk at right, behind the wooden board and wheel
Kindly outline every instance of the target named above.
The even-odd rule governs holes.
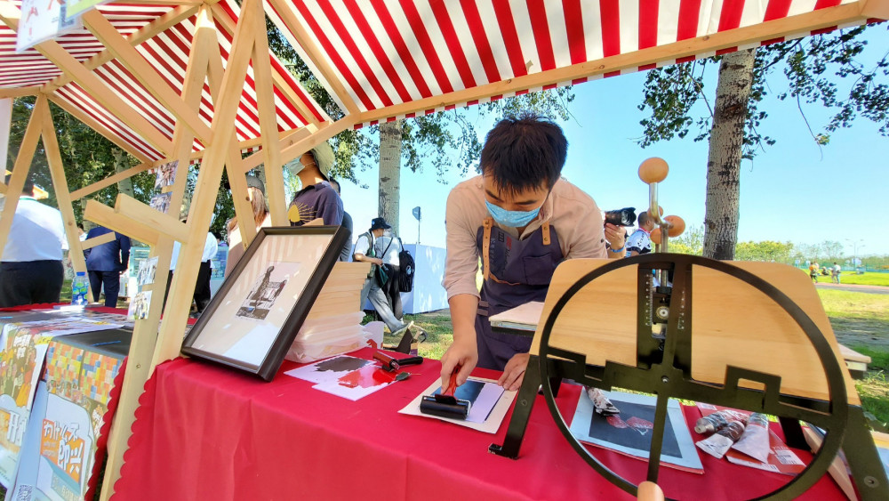
[[[750,49],[725,54],[719,64],[704,214],[704,256],[713,259],[733,259],[738,242],[741,152],[755,58]]]

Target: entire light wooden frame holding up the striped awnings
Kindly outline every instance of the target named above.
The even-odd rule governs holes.
[[[114,207],[103,206],[89,200],[84,210],[85,219],[148,243],[151,255],[158,258],[158,270],[169,268],[173,242],[179,241],[182,246],[177,266],[178,272],[172,279],[171,294],[173,297],[190,297],[194,292],[197,264],[200,262],[204,249],[204,236],[210,226],[223,169],[228,170],[236,214],[239,219],[244,221],[252,219],[252,211],[246,197],[247,187],[244,173],[260,164],[271,167],[265,169],[265,174],[272,222],[275,225],[285,225],[287,224],[287,200],[284,199],[281,166],[294,158],[299,158],[317,144],[356,125],[392,121],[396,117],[422,113],[427,109],[443,109],[525,89],[542,88],[581,78],[603,76],[620,72],[623,69],[637,69],[658,61],[733,50],[745,44],[758,43],[761,40],[775,39],[801,32],[811,32],[821,28],[863,24],[872,19],[889,19],[889,1],[861,0],[780,20],[766,21],[747,28],[700,36],[633,53],[605,57],[597,61],[541,71],[524,77],[510,78],[501,82],[404,102],[388,108],[362,112],[349,96],[344,83],[340,81],[336,72],[324,59],[323,53],[308,35],[307,28],[303,27],[300,21],[292,15],[291,9],[284,4],[284,0],[266,0],[268,5],[275,8],[276,12],[282,16],[284,25],[292,31],[302,46],[302,50],[308,55],[308,59],[320,74],[317,77],[323,78],[329,85],[335,97],[343,104],[346,113],[345,117],[336,121],[314,121],[300,129],[278,133],[272,91],[277,77],[271,69],[267,55],[268,39],[263,0],[244,0],[241,5],[240,17],[236,22],[232,21],[226,12],[221,11],[218,2],[219,0],[143,0],[142,4],[166,4],[173,5],[173,8],[130,36],[121,36],[99,11],[84,13],[84,26],[106,47],[104,51],[84,62],[77,61],[55,41],[50,40],[36,45],[36,50],[64,71],[64,74],[45,85],[0,89],[0,98],[28,95],[37,97],[36,106],[28,122],[28,129],[15,161],[10,183],[6,186],[0,182],[0,192],[6,196],[4,211],[0,215],[0,249],[4,248],[12,225],[12,215],[18,203],[18,194],[27,178],[36,142],[41,137],[44,140],[52,183],[66,225],[68,245],[71,249],[70,256],[76,271],[85,271],[83,255],[79,251],[88,246],[99,245],[102,240],[92,238],[83,244],[79,241],[72,209],[73,200],[84,198],[115,182],[172,160],[178,160],[180,164],[187,165],[196,158],[202,159],[187,222],[180,222],[172,215],[160,214],[149,206],[124,195],[118,196]],[[197,19],[196,32],[191,52],[188,55],[183,91],[181,95],[176,95],[168,85],[164,84],[156,69],[151,68],[141,58],[140,54],[136,52],[135,46],[193,15],[196,15]],[[10,2],[0,4],[0,20],[7,27],[17,30],[19,17],[19,8],[14,4]],[[224,70],[217,42],[220,35],[217,33],[216,23],[219,23],[220,27],[229,31],[233,36],[231,51],[228,54]],[[136,109],[120,99],[108,85],[92,72],[112,59],[122,62],[140,84],[157,101],[162,103],[173,117],[176,117],[172,141],[158,133],[157,129],[145,117],[142,117]],[[258,141],[239,142],[235,138],[234,122],[250,61],[252,61],[256,83],[261,136]],[[212,100],[215,102],[212,124],[209,127],[200,120],[197,114],[201,90],[205,81],[209,83]],[[82,86],[117,119],[139,133],[152,147],[161,151],[165,158],[152,161],[140,151],[119,140],[104,125],[60,100],[56,91],[69,82],[76,82]],[[49,101],[59,105],[84,122],[85,125],[89,125],[96,132],[114,142],[119,148],[139,159],[140,164],[83,189],[68,192],[68,183],[61,164]],[[306,115],[310,117],[311,113]],[[196,138],[203,142],[205,146],[203,152],[192,152],[192,144]],[[261,146],[260,152],[241,159],[240,151],[242,149],[258,145]],[[173,207],[178,207],[181,204],[185,194],[186,178],[187,176],[184,175],[177,176],[176,182],[172,186],[171,206]],[[255,230],[251,225],[244,224],[240,225],[240,230],[244,244],[249,244],[255,236]],[[164,273],[158,273],[152,287],[156,291],[164,290],[166,280],[167,277]],[[134,413],[139,406],[143,385],[157,364],[171,360],[180,353],[183,331],[188,321],[188,303],[171,301],[169,307],[164,311],[164,319],[161,321],[163,303],[163,301],[153,302],[150,306],[148,319],[136,322],[121,400],[108,442],[108,466],[101,493],[103,500],[113,494],[115,481],[119,477],[121,465],[124,463],[124,451],[131,435]]]

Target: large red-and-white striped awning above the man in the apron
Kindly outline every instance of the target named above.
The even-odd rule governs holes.
[[[433,96],[459,93],[536,73],[567,69],[615,56],[714,36],[766,21],[868,2],[856,0],[269,0],[269,17],[306,59],[315,50],[361,112],[382,110]],[[870,0],[877,4],[878,0]],[[885,6],[885,2],[882,2]],[[289,9],[290,12],[281,12]],[[885,10],[885,9],[884,9]],[[308,32],[285,20],[298,21]],[[859,16],[861,18],[861,16]],[[861,24],[866,18],[854,19]],[[813,20],[809,26],[817,25]],[[788,24],[792,26],[792,24]],[[783,36],[773,30],[739,35],[743,44],[718,51],[653,54],[629,68],[596,71],[539,87],[492,91],[484,97],[413,112],[374,114],[382,120],[412,117],[479,101],[611,77],[639,69],[692,61],[759,44],[837,28],[803,29]],[[780,28],[778,28],[780,29]],[[649,51],[652,52],[653,51]],[[332,95],[334,86],[328,85]],[[340,96],[341,98],[342,96]],[[340,99],[340,106],[345,103]],[[402,109],[408,107],[401,107]],[[376,123],[373,120],[370,123]],[[356,126],[366,125],[359,123]]]

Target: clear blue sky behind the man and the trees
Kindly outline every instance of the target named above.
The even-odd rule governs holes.
[[[874,36],[869,50],[882,55],[889,46],[885,29],[871,28],[869,34]],[[716,87],[715,67],[708,78],[706,86],[712,94]],[[644,82],[645,73],[635,73],[573,87],[573,119],[561,123],[569,142],[563,175],[589,193],[603,209],[641,208],[648,204],[648,190],[638,179],[638,166],[645,158],[664,158],[670,166],[669,176],[660,187],[665,214],[677,214],[689,226],[701,225],[708,143],[686,138],[663,141],[646,149],[639,147],[634,139],[641,135],[639,121],[645,118],[637,109]],[[769,82],[772,94],[786,87],[780,74]],[[712,101],[712,95],[709,99]],[[857,242],[859,255],[889,255],[889,234],[880,230],[886,228],[880,214],[889,208],[885,160],[889,138],[877,132],[876,124],[859,118],[852,128],[832,133],[829,144],[820,149],[806,128],[796,101],[768,97],[761,109],[769,117],[760,130],[777,143],[766,147],[753,162],[745,160],[741,165],[739,241],[789,240],[812,245],[837,240],[845,245],[849,256],[853,255],[853,242]],[[829,114],[813,106],[804,109],[813,130],[819,132]],[[493,118],[478,119],[476,110],[471,108],[459,112],[475,120],[484,140]],[[357,234],[377,215],[378,170],[374,166],[356,174],[369,189],[343,182],[342,195],[346,211],[356,222]],[[421,206],[420,243],[445,246],[445,201],[448,192],[462,179],[448,173],[443,184],[436,180],[432,168],[422,173],[404,170],[400,235],[405,243],[417,240],[417,222],[411,210]]]

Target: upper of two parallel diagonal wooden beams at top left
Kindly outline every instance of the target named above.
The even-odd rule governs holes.
[[[84,26],[102,44],[108,47],[108,50],[114,54],[117,61],[120,61],[129,69],[133,77],[136,77],[140,84],[165,109],[172,113],[177,120],[184,122],[201,142],[207,144],[212,141],[210,127],[204,125],[204,121],[201,120],[201,117],[198,117],[196,112],[190,111],[185,107],[185,103],[180,95],[164,82],[164,79],[157,73],[156,69],[151,67],[148,61],[142,57],[142,54],[129,44],[124,36],[121,36],[117,28],[109,20],[105,19],[101,12],[95,9],[84,12],[81,14],[80,19],[84,20]]]

